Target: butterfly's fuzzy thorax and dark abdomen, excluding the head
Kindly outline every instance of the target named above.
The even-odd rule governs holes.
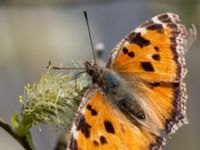
[[[104,92],[127,118],[131,120],[135,117],[140,120],[145,119],[144,111],[136,101],[133,93],[128,90],[126,82],[120,76],[112,70],[105,69],[102,73],[102,80]]]

